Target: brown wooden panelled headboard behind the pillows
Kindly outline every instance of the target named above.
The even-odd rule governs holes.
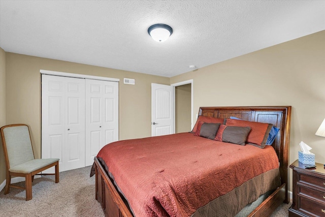
[[[199,115],[219,118],[238,117],[243,120],[272,123],[280,129],[272,146],[280,163],[281,183],[286,184],[285,202],[288,197],[288,156],[290,142],[291,106],[236,106],[236,107],[200,107]]]

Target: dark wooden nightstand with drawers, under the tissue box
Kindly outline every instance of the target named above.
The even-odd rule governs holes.
[[[325,169],[316,163],[316,169],[304,169],[295,161],[293,169],[293,205],[289,216],[325,216]]]

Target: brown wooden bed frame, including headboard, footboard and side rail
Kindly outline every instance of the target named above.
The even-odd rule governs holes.
[[[279,158],[281,186],[249,216],[269,216],[281,203],[289,202],[287,183],[291,106],[200,107],[199,115],[219,118],[235,116],[249,121],[272,123],[275,127],[280,128],[272,146]],[[95,198],[101,203],[105,215],[110,217],[133,216],[97,158],[94,159],[94,165]]]

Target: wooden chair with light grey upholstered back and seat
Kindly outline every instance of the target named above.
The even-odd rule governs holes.
[[[59,159],[35,159],[27,125],[4,126],[1,128],[1,138],[7,168],[5,194],[9,193],[10,187],[25,189],[26,200],[30,200],[34,175],[55,175],[55,183],[59,182]],[[39,174],[53,166],[55,166],[55,173]],[[12,185],[11,176],[25,177],[25,188]]]

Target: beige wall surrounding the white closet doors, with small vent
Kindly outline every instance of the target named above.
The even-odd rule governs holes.
[[[7,124],[29,125],[37,158],[41,157],[41,69],[120,79],[119,139],[151,136],[151,83],[169,84],[166,77],[7,52]],[[134,78],[136,84],[123,84],[124,77]],[[0,183],[3,180],[0,179]]]

